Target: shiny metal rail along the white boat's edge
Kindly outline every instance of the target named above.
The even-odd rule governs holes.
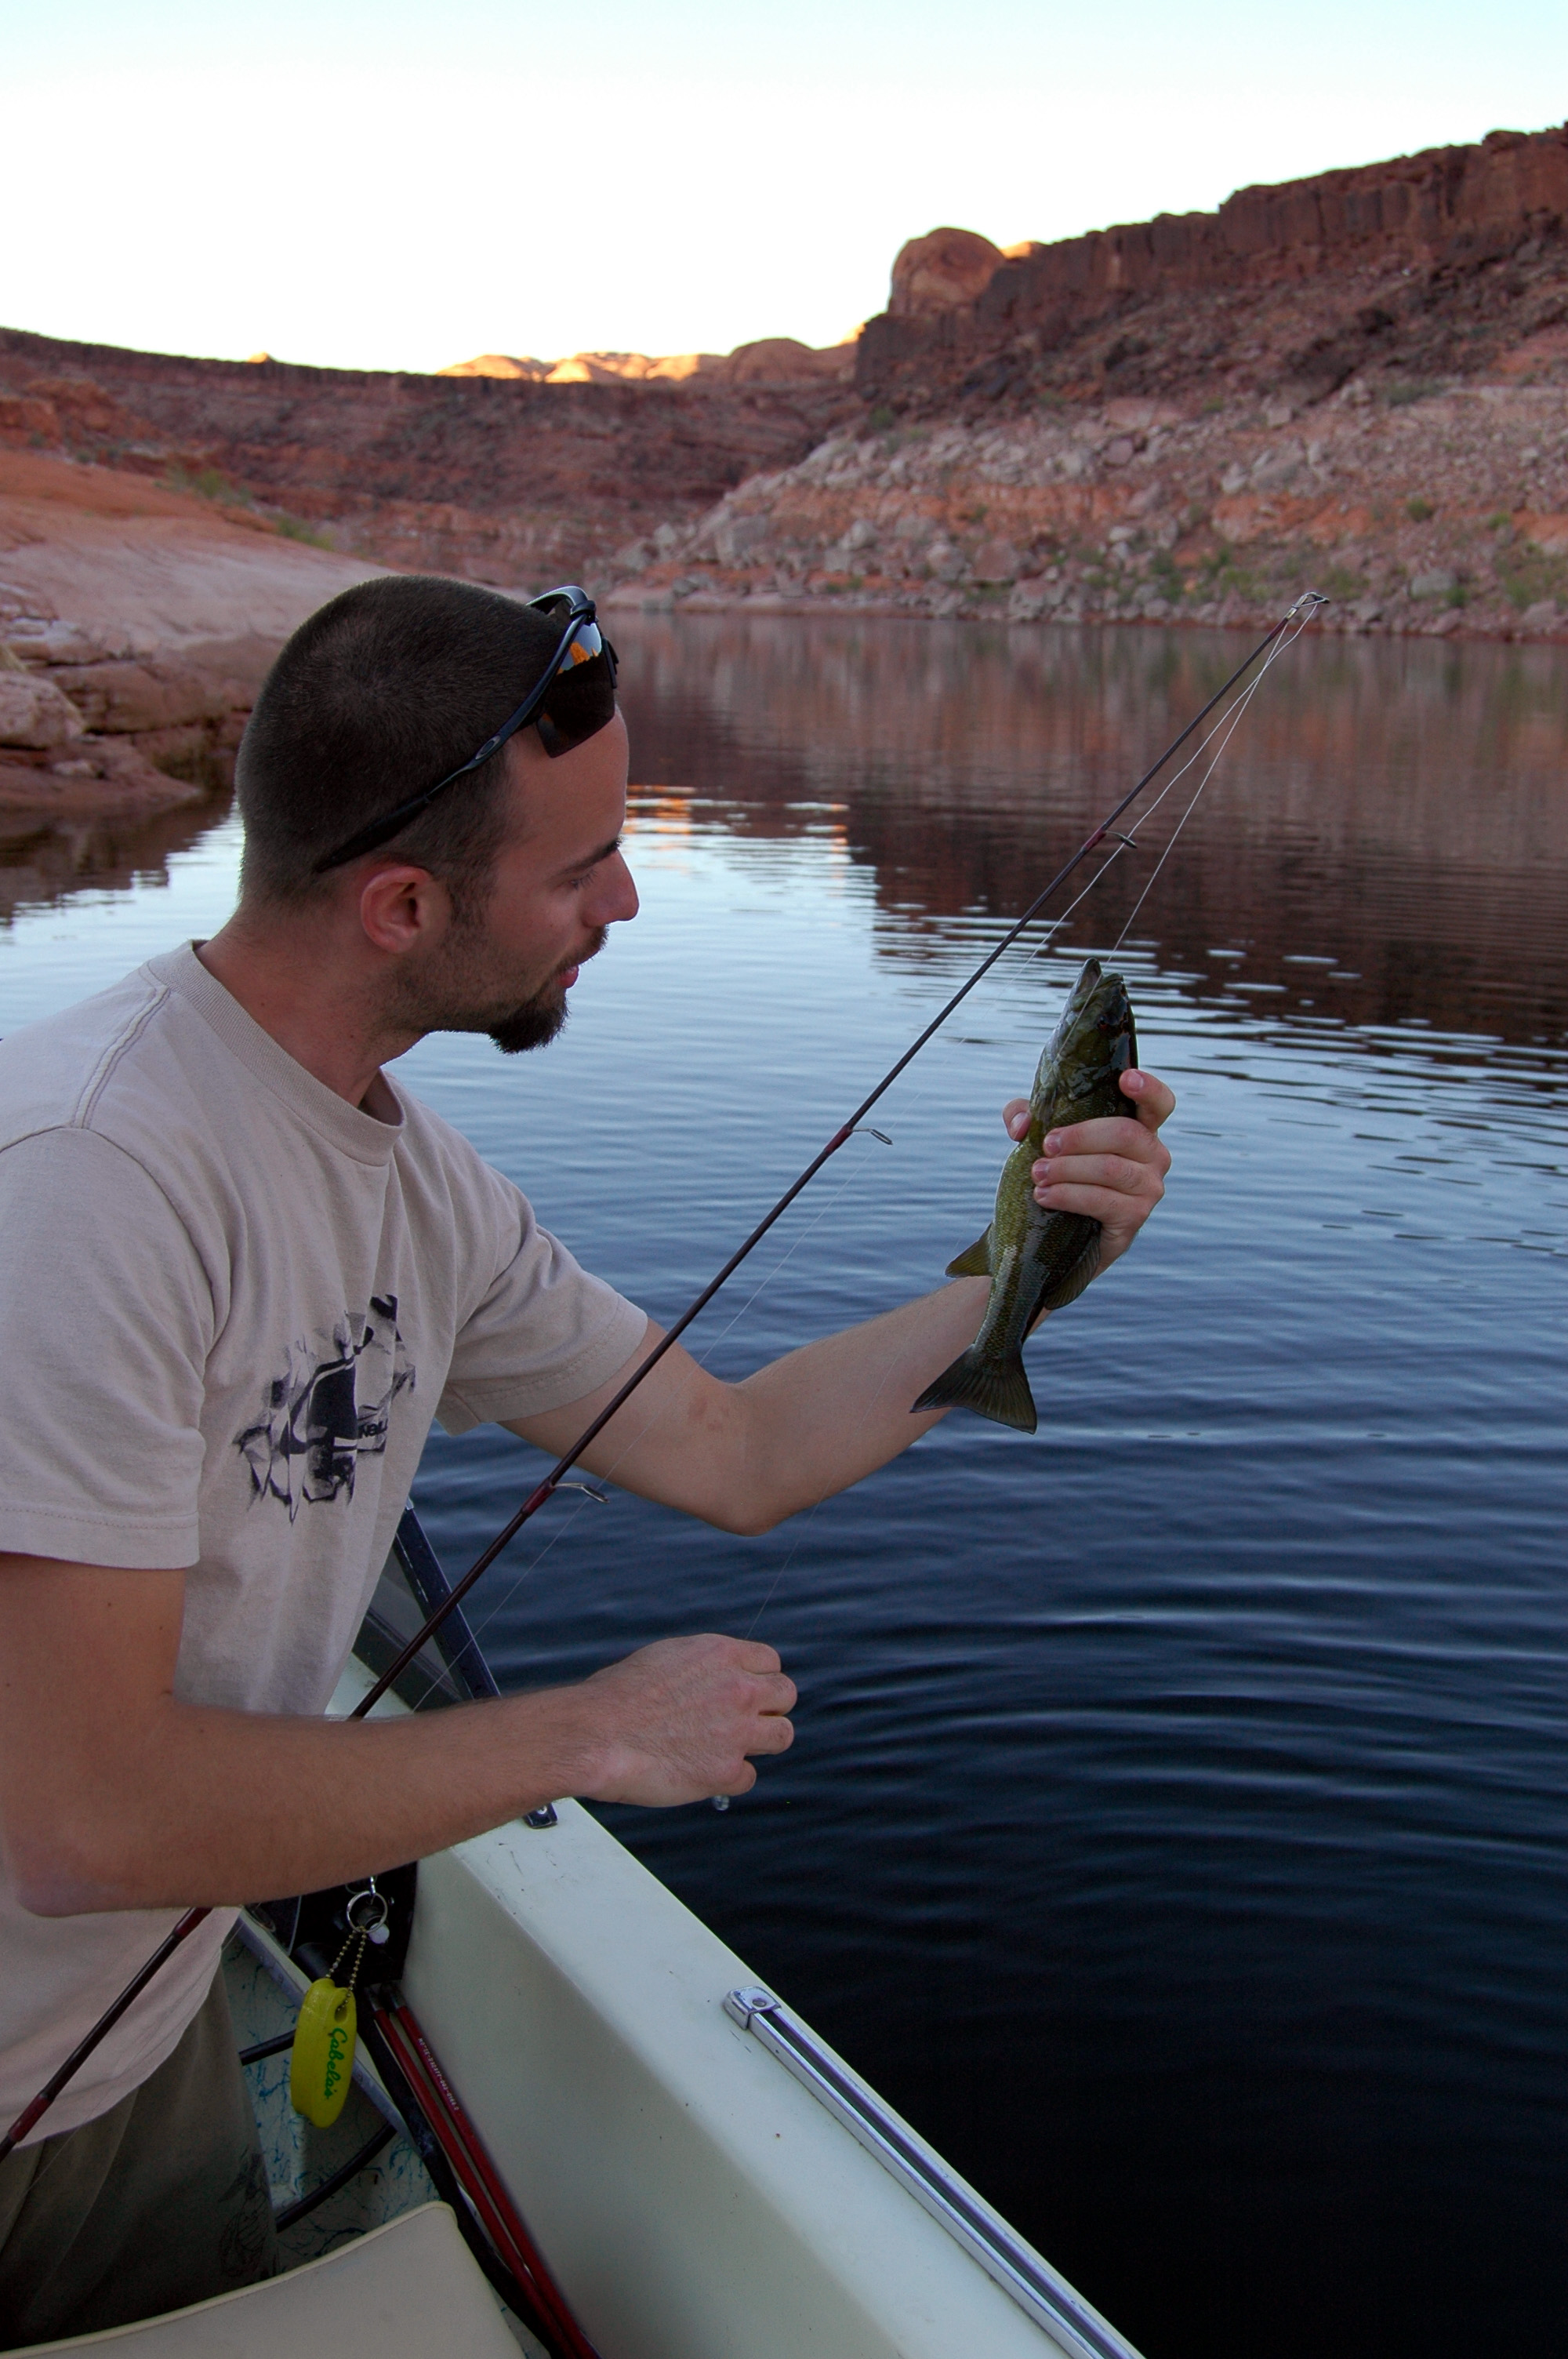
[[[943,2158],[905,2130],[875,2090],[849,2074],[783,2000],[771,1991],[731,1991],[724,2012],[759,2038],[1073,2359],[1139,2359],[1132,2342],[1056,2276],[1000,2213],[969,2194]]]

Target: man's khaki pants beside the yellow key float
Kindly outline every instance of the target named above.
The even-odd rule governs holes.
[[[276,2272],[219,1972],[151,2081],[0,2163],[0,2350],[151,2319]]]

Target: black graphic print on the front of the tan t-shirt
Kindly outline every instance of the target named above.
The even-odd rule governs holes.
[[[290,1345],[262,1418],[233,1437],[252,1498],[283,1500],[290,1524],[307,1503],[354,1498],[358,1460],[384,1453],[391,1404],[413,1380],[396,1295],[373,1295],[363,1316],[344,1312],[316,1345]]]

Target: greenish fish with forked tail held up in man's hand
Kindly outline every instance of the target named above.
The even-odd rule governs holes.
[[[1035,1432],[1040,1420],[1023,1373],[1023,1338],[1045,1312],[1075,1302],[1099,1269],[1099,1222],[1035,1203],[1030,1170],[1047,1130],[1129,1111],[1120,1076],[1137,1059],[1127,986],[1120,974],[1106,974],[1099,958],[1089,958],[1061,1024],[1040,1052],[1028,1130],[1002,1165],[990,1227],[948,1262],[950,1279],[990,1279],[986,1321],[969,1349],[927,1385],[910,1415],[927,1408],[974,1408],[995,1425]]]

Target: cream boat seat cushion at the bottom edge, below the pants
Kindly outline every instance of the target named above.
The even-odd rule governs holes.
[[[262,2286],[31,2350],[106,2359],[519,2359],[448,2203],[422,2203]]]

